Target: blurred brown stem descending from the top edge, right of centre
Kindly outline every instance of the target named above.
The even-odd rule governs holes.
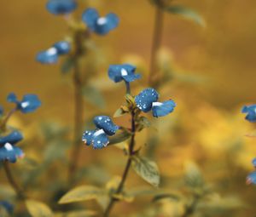
[[[149,76],[148,76],[148,84],[154,88],[157,79],[159,79],[157,75],[157,65],[156,58],[157,52],[160,49],[161,37],[163,31],[163,19],[164,12],[160,6],[155,6],[155,14],[154,14],[154,31],[153,31],[153,43],[151,48],[151,60],[150,60],[150,68],[149,68]]]

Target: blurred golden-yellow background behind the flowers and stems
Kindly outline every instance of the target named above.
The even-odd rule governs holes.
[[[76,14],[78,17],[85,7],[93,6],[102,14],[112,11],[120,18],[116,31],[106,37],[92,37],[97,48],[97,66],[96,70],[84,69],[84,73],[95,73],[90,83],[102,92],[105,106],[99,108],[84,102],[86,128],[93,115],[113,114],[124,102],[124,87],[108,81],[109,64],[127,61],[137,64],[143,73],[143,81],[133,87],[134,93],[145,86],[153,37],[154,7],[146,0],[80,2]],[[178,106],[172,116],[155,123],[159,126],[159,144],[148,149],[151,152],[145,151],[145,154],[154,157],[159,164],[165,187],[177,190],[183,180],[184,164],[194,162],[216,192],[216,203],[227,203],[232,216],[253,216],[256,212],[256,189],[247,186],[245,178],[253,171],[251,160],[256,153],[255,139],[246,135],[253,134],[254,125],[244,120],[240,110],[244,104],[255,102],[256,2],[174,2],[195,9],[204,17],[207,26],[197,26],[176,15],[165,14],[159,58],[172,66],[176,76],[160,88],[160,94],[162,99],[171,96]],[[67,127],[67,137],[70,136],[68,129],[73,128],[71,76],[61,75],[59,64],[42,66],[35,61],[39,50],[48,48],[67,35],[67,25],[63,18],[46,11],[45,1],[4,1],[1,6],[1,105],[7,110],[11,108],[5,102],[9,92],[15,92],[20,97],[26,93],[38,94],[43,102],[40,110],[25,117],[16,114],[10,123],[25,131],[26,156],[40,163],[42,157],[38,150],[49,146],[42,135],[42,125],[52,123]],[[116,121],[123,122],[122,119]],[[146,133],[137,137],[138,142],[145,144]],[[108,180],[112,174],[120,174],[125,160],[119,153],[119,149],[114,147],[101,151],[84,147],[80,167],[90,168],[90,172],[86,170],[89,174],[96,171],[98,180],[89,179],[84,174],[79,181],[87,183],[89,179],[89,182],[99,183],[99,180]],[[65,155],[68,157],[67,153]],[[55,173],[56,170],[51,168],[50,171]],[[61,171],[58,171],[60,177],[65,173]],[[0,182],[4,181],[2,177],[3,174]],[[38,181],[47,183],[42,177]],[[131,174],[128,186],[141,183],[142,180]],[[38,187],[38,192],[33,193],[38,197],[40,186],[34,184],[34,187]],[[45,194],[45,198],[49,196]],[[121,203],[115,212],[118,214],[119,210],[126,209],[128,214],[133,214],[146,208],[147,203],[141,199],[138,203]],[[167,212],[166,216],[179,215],[168,215]],[[226,216],[226,213],[195,216]]]

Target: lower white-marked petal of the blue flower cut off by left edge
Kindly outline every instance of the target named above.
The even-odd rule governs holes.
[[[18,157],[24,157],[23,151],[16,146],[6,143],[0,148],[0,161],[15,163]]]

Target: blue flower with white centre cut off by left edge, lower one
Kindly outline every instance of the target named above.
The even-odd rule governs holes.
[[[22,139],[22,134],[16,130],[6,136],[0,136],[0,161],[15,163],[18,157],[24,157],[23,151],[15,146]]]

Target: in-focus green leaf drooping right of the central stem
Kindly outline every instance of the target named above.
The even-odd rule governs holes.
[[[158,187],[160,184],[159,169],[153,161],[144,157],[132,157],[132,167],[136,173],[152,186]]]

